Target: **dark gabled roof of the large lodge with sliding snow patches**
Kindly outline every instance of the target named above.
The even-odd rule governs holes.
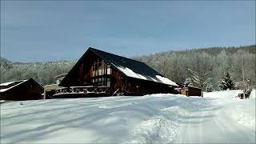
[[[93,52],[104,61],[110,63],[110,65],[115,70],[118,70],[123,76],[139,78],[152,82],[160,82],[170,86],[178,86],[175,82],[172,82],[170,79],[163,77],[150,66],[147,66],[144,62],[138,62],[130,58],[125,58],[116,54],[110,54],[108,52],[97,50],[91,47],[86,50],[86,53],[82,55],[82,58],[78,60],[74,67],[78,66],[78,63],[82,61],[82,59],[89,51]],[[69,74],[72,70],[74,70],[74,67],[70,70]],[[67,74],[66,76],[68,76],[69,74]],[[62,82],[60,83],[60,86],[62,86]]]

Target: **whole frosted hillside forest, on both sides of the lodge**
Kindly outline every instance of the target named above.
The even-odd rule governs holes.
[[[246,78],[255,86],[255,57],[256,47],[253,45],[166,51],[137,56],[134,59],[145,62],[160,74],[178,83],[184,83],[186,78],[191,78],[193,73],[196,73],[202,77],[200,81],[205,82],[202,88],[210,86],[213,90],[219,90],[218,81],[226,73],[230,74],[234,82],[241,83],[243,78]],[[54,76],[68,73],[75,62],[76,60],[22,63],[1,58],[1,83],[34,78],[44,85],[51,84],[54,83]],[[193,85],[198,86],[195,82]]]

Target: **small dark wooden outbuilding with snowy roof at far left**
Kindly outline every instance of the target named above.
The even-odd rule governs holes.
[[[42,99],[43,86],[33,78],[0,84],[0,100],[23,101]]]

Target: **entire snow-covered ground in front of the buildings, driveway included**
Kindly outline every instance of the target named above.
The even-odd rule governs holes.
[[[255,143],[255,90],[6,102],[1,143]]]

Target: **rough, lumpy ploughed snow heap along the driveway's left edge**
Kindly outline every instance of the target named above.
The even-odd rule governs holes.
[[[187,114],[179,106],[162,109],[160,116],[143,121],[134,129],[134,140],[128,143],[172,143],[178,134],[178,117]]]

